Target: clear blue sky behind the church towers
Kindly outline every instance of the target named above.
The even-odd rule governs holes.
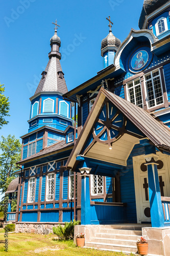
[[[138,30],[143,0],[6,0],[0,9],[0,82],[9,96],[9,124],[0,130],[16,138],[28,132],[30,100],[45,69],[56,18],[61,26],[61,65],[68,90],[103,69],[101,41],[109,33],[123,41]],[[77,39],[76,39],[77,38]],[[73,75],[74,74],[74,75]]]

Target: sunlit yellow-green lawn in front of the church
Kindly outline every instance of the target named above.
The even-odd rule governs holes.
[[[123,256],[122,252],[100,251],[77,247],[72,241],[60,242],[54,234],[9,233],[8,253],[4,251],[4,230],[0,229],[0,255],[8,256]]]

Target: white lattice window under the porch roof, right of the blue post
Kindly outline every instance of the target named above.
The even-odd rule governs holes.
[[[91,194],[92,195],[103,194],[103,176],[91,175]]]

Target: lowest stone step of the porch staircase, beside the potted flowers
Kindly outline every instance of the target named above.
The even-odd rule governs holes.
[[[107,244],[107,243],[92,243],[86,242],[85,247],[91,247],[95,249],[110,250],[110,251],[122,251],[124,253],[137,253],[136,246],[126,246],[117,244]]]

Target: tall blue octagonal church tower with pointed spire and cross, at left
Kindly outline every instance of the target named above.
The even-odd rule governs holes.
[[[64,131],[72,126],[71,103],[63,99],[67,93],[59,52],[60,37],[57,35],[57,20],[54,36],[50,39],[51,52],[37,90],[30,98],[31,111],[28,134],[22,136],[22,159],[30,157],[47,146],[65,140]]]

